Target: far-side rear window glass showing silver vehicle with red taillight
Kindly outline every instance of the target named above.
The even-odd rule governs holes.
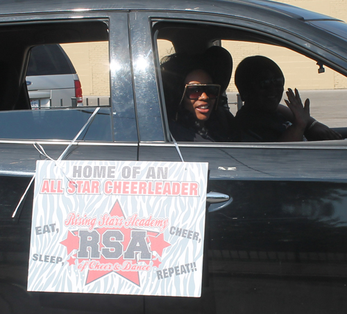
[[[33,47],[26,85],[31,108],[110,106],[108,42]]]

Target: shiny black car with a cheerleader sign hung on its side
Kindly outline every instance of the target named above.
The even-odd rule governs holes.
[[[225,41],[266,44],[325,68],[344,89],[344,22],[265,0],[6,0],[0,39],[1,313],[346,313],[346,142],[173,142],[158,52],[160,40],[188,53]],[[89,124],[92,106],[31,110],[32,47],[105,41],[110,106]],[[207,206],[201,297],[27,291],[29,183],[36,160],[62,152],[66,160],[208,163],[208,192],[222,202]]]

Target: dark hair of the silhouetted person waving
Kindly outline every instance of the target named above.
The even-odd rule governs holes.
[[[276,76],[285,78],[280,67],[273,60],[264,56],[247,57],[239,63],[235,71],[235,85],[242,100],[246,94],[252,91],[251,83],[259,81],[262,73],[269,69]]]

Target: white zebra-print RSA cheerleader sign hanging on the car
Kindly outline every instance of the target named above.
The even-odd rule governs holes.
[[[207,163],[37,161],[28,291],[199,297]]]

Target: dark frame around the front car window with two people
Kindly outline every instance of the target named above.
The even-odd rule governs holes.
[[[344,76],[347,76],[347,57],[346,58],[340,58],[337,53],[329,51],[326,47],[323,47],[322,44],[314,44],[310,42],[310,45],[307,44],[307,39],[305,39],[304,35],[307,35],[312,30],[311,24],[305,24],[305,33],[296,35],[293,32],[290,32],[289,30],[285,28],[278,28],[277,26],[273,26],[271,24],[265,24],[264,22],[257,21],[257,20],[251,20],[251,19],[240,19],[239,17],[235,16],[223,16],[223,15],[216,15],[216,14],[205,14],[205,13],[157,13],[157,12],[146,12],[146,13],[137,13],[136,15],[137,19],[141,18],[142,20],[149,21],[149,28],[150,28],[150,34],[151,34],[151,41],[152,41],[152,53],[153,56],[149,56],[149,58],[154,58],[155,65],[156,65],[156,84],[158,86],[158,101],[160,101],[160,114],[162,115],[162,128],[164,129],[164,140],[160,137],[153,141],[140,141],[140,144],[143,144],[145,146],[148,146],[151,142],[151,144],[155,144],[155,142],[165,142],[166,144],[173,142],[169,141],[170,133],[169,133],[169,126],[167,123],[167,117],[166,117],[166,110],[164,108],[164,93],[162,90],[162,83],[161,83],[161,77],[160,77],[160,71],[158,70],[159,67],[159,58],[158,58],[158,49],[156,49],[156,42],[155,37],[153,33],[153,25],[159,22],[173,22],[173,23],[187,23],[187,24],[201,24],[201,25],[214,25],[214,26],[221,26],[221,27],[227,27],[227,28],[237,28],[238,30],[244,30],[249,31],[252,33],[257,33],[262,35],[262,37],[271,38],[273,42],[278,42],[281,44],[282,47],[289,48],[293,51],[296,51],[298,53],[303,54],[304,56],[307,56],[308,58],[312,59],[319,59],[323,60],[324,64],[331,69],[339,72],[340,74],[343,74]],[[218,18],[217,18],[218,17]],[[288,17],[289,18],[289,17]],[[294,20],[290,17],[291,24],[294,24]],[[218,22],[215,22],[218,20]],[[297,21],[295,21],[297,22]],[[294,25],[295,26],[295,25]],[[297,26],[295,26],[297,27]],[[294,27],[294,28],[295,28]],[[273,34],[273,30],[276,28],[276,35]],[[308,31],[307,31],[308,28]],[[318,28],[314,28],[314,36],[315,38],[319,38],[319,30]],[[335,40],[334,35],[332,35],[332,38]],[[326,42],[332,41],[332,38],[328,38]],[[337,37],[336,37],[337,38]],[[320,38],[321,39],[321,38]],[[344,40],[341,40],[341,38],[337,38],[339,41],[339,44],[347,45],[347,42]],[[147,39],[147,41],[149,41]],[[324,40],[323,40],[324,41]],[[308,49],[307,47],[310,47]],[[346,53],[344,54],[346,56]],[[153,93],[154,94],[154,93]],[[206,146],[209,147],[212,145],[213,147],[269,147],[269,148],[276,148],[276,147],[296,147],[296,148],[304,148],[304,147],[310,147],[312,148],[329,148],[332,149],[343,146],[344,143],[339,141],[319,141],[319,142],[291,142],[291,143],[282,143],[282,142],[274,142],[274,143],[235,143],[235,142],[223,142],[223,143],[210,143],[210,142],[179,142],[179,145],[183,146],[191,146],[192,144],[195,146]]]

